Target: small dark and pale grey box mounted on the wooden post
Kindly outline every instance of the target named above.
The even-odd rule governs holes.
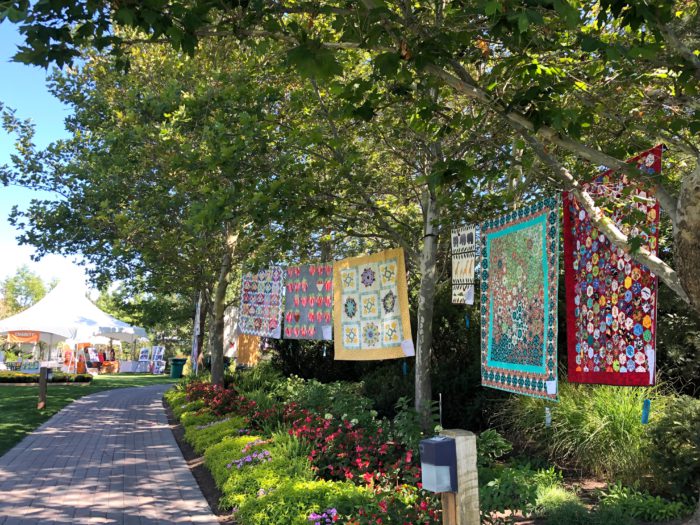
[[[457,492],[457,447],[454,438],[436,436],[420,442],[423,488]]]

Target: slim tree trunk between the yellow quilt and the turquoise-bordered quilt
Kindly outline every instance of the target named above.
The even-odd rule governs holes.
[[[418,296],[418,329],[416,334],[415,407],[421,414],[424,431],[430,427],[430,355],[433,345],[433,310],[437,281],[437,221],[440,209],[434,191],[423,192],[423,250],[420,256],[420,294]]]

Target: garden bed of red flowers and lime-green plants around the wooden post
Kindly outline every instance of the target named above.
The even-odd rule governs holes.
[[[261,367],[233,384],[190,382],[165,395],[183,453],[195,469],[204,458],[218,491],[203,487],[212,508],[240,525],[441,523],[439,497],[421,489],[415,452],[425,436],[406,400],[387,420],[351,383]],[[672,523],[692,510],[691,500],[565,479],[541,458],[514,455],[494,430],[479,436],[478,458],[482,523]]]

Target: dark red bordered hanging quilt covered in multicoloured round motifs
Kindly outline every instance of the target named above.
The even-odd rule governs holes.
[[[662,151],[657,146],[628,162],[658,174]],[[621,202],[611,216],[615,224],[656,253],[659,204],[653,195],[612,170],[583,188],[596,200]],[[622,220],[631,213],[632,229]],[[610,244],[571,194],[564,194],[564,264],[569,381],[653,385],[657,278]]]

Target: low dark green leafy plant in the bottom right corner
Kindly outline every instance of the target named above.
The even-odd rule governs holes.
[[[683,501],[670,501],[652,496],[619,483],[610,485],[600,494],[601,508],[616,508],[634,518],[644,521],[669,521],[688,516],[693,508]]]

